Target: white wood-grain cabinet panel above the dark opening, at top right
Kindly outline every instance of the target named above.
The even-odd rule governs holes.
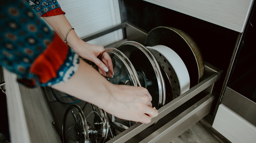
[[[144,0],[243,32],[253,0]]]

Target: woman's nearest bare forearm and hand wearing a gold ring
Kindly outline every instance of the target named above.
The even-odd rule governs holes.
[[[149,123],[158,115],[152,108],[152,97],[146,88],[114,85],[83,60],[68,81],[52,87],[93,103],[120,119]]]

